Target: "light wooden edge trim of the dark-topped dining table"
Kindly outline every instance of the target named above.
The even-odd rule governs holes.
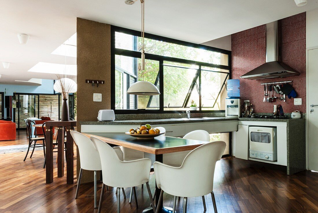
[[[124,146],[127,148],[135,149],[135,150],[150,153],[150,154],[166,154],[166,153],[189,151],[189,150],[193,150],[193,149],[205,144],[204,141],[202,141],[203,142],[202,144],[195,144],[195,145],[173,146],[173,147],[169,147],[169,148],[150,148],[149,146],[133,144],[130,142],[123,142],[121,140],[117,140],[117,139],[113,139],[113,138],[106,138],[106,137],[102,137],[102,136],[98,136],[98,135],[94,135],[94,134],[88,134],[85,132],[82,132],[82,134],[84,134],[88,138],[93,136],[93,137],[99,138],[102,141],[109,143],[109,144],[114,144],[117,146]],[[164,137],[169,137],[169,136],[164,136]]]

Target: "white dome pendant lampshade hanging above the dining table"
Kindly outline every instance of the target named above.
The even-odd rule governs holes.
[[[160,95],[160,92],[154,84],[146,81],[139,81],[128,88],[127,94],[139,96],[156,96]]]

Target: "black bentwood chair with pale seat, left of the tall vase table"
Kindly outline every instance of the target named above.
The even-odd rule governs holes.
[[[37,147],[43,147],[43,153],[44,153],[44,158],[45,158],[45,141],[44,141],[44,137],[37,137],[36,128],[34,130],[34,133],[32,132],[32,126],[35,125],[34,121],[27,119],[27,120],[25,120],[25,123],[26,123],[26,128],[27,128],[28,136],[29,136],[28,137],[29,146],[28,146],[28,150],[27,150],[27,152],[25,154],[25,157],[24,157],[23,161],[25,161],[26,157],[28,156],[30,147],[33,148],[30,158],[32,158],[34,149],[37,148]],[[37,144],[37,142],[39,142],[39,141],[41,141],[42,143],[41,144]]]

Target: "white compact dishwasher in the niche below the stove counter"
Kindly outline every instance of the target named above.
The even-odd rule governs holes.
[[[276,127],[249,127],[250,158],[261,160],[277,160]]]

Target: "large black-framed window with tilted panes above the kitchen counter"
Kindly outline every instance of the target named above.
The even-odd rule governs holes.
[[[116,114],[183,112],[192,101],[200,112],[225,112],[231,51],[145,34],[141,71],[140,35],[112,26],[111,108]],[[153,83],[161,94],[126,94],[137,81]]]

